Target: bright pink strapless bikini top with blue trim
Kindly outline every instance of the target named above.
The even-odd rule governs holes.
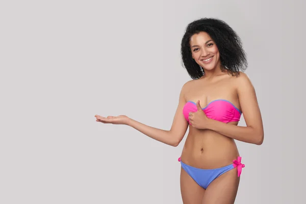
[[[220,122],[234,122],[239,121],[241,111],[236,108],[230,101],[224,99],[217,99],[211,101],[205,108],[202,108],[208,118],[218,120]],[[189,122],[189,112],[196,112],[196,103],[187,101],[183,108],[185,119]]]

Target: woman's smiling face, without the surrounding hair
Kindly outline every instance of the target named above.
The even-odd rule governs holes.
[[[213,39],[206,32],[194,34],[190,38],[192,58],[206,70],[220,66],[220,53]]]

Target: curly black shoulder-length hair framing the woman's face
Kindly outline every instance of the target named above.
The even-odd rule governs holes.
[[[246,69],[246,54],[237,33],[220,19],[200,18],[187,25],[181,43],[183,66],[192,79],[199,79],[204,74],[204,70],[192,58],[190,49],[191,36],[200,32],[207,32],[216,43],[220,53],[222,71],[226,69],[227,73],[239,75],[239,71]]]

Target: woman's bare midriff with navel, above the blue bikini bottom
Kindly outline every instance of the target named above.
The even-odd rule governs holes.
[[[239,151],[235,140],[210,130],[189,132],[181,160],[202,169],[219,168],[237,159]]]

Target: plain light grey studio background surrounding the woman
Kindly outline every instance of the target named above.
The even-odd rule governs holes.
[[[187,24],[239,34],[264,121],[237,141],[235,203],[305,203],[302,1],[2,1],[0,203],[182,203],[178,147],[94,115],[169,130]],[[242,118],[239,125],[245,125]]]

